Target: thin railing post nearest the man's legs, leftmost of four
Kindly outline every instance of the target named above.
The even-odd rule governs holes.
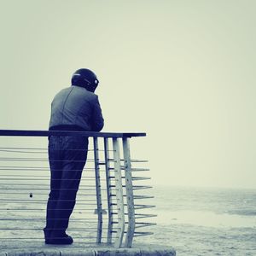
[[[100,177],[100,165],[99,165],[99,148],[98,138],[93,137],[94,148],[94,163],[95,163],[95,177],[96,177],[96,197],[97,197],[97,237],[96,242],[102,242],[102,191],[101,191],[101,177]]]

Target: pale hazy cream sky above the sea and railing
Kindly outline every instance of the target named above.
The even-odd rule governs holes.
[[[103,131],[131,138],[153,184],[255,188],[256,2],[0,0],[0,129],[47,130],[92,69]]]

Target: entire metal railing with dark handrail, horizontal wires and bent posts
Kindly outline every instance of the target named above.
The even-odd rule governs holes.
[[[43,241],[49,136],[89,137],[92,145],[68,229],[78,240],[131,247],[134,237],[153,234],[143,228],[154,223],[143,219],[156,216],[145,212],[154,206],[137,202],[153,198],[147,193],[152,187],[143,183],[149,177],[137,176],[149,171],[141,166],[147,160],[131,159],[130,152],[130,138],[145,133],[0,130],[1,244]],[[140,192],[147,195],[137,195]]]

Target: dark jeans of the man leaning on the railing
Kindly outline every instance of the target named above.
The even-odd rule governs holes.
[[[87,158],[88,137],[49,137],[50,193],[46,226],[63,234],[76,202]]]

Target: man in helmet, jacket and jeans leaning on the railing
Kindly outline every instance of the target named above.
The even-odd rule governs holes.
[[[89,69],[79,69],[72,85],[61,90],[51,103],[49,131],[101,131],[104,125],[98,96],[99,81]],[[49,137],[50,193],[44,238],[47,244],[72,244],[67,236],[87,158],[88,137]]]

